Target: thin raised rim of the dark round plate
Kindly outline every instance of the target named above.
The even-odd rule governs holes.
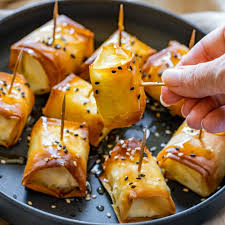
[[[150,3],[147,2],[134,2],[131,0],[58,0],[59,3],[63,4],[65,2],[80,2],[82,4],[85,3],[98,3],[98,4],[102,4],[102,3],[107,3],[107,4],[115,4],[115,5],[119,5],[120,3],[124,3],[127,5],[138,5],[138,6],[143,6],[146,8],[150,8],[153,11],[158,11],[161,14],[164,14],[174,20],[176,20],[179,23],[182,23],[183,25],[187,26],[187,27],[194,27],[196,28],[199,32],[201,32],[202,34],[206,34],[206,32],[204,32],[201,28],[199,28],[198,26],[194,25],[193,23],[187,21],[184,18],[181,18],[179,15],[176,15],[168,10],[165,9],[161,9],[157,6],[153,6]],[[36,2],[36,3],[32,3],[29,4],[27,6],[23,6],[21,8],[18,8],[16,10],[14,10],[12,13],[10,13],[9,15],[6,15],[4,17],[2,17],[0,19],[0,26],[2,26],[2,24],[7,23],[9,20],[14,19],[15,17],[20,16],[23,13],[26,13],[28,10],[35,10],[38,9],[44,5],[53,5],[54,4],[54,0],[44,0],[41,2]],[[194,205],[188,209],[185,209],[181,212],[175,213],[173,215],[170,216],[166,216],[163,218],[159,218],[156,220],[149,220],[149,221],[145,221],[145,222],[136,222],[136,223],[124,223],[127,225],[160,225],[161,222],[165,222],[167,221],[172,222],[174,219],[177,218],[182,218],[183,216],[187,216],[189,214],[192,214],[194,212],[197,212],[199,210],[201,210],[202,208],[207,207],[209,204],[211,204],[213,201],[217,200],[218,197],[222,196],[225,193],[225,185],[220,189],[217,190],[214,194],[212,194],[209,198],[207,198],[205,201],[198,203],[197,205]],[[45,212],[41,209],[37,209],[35,207],[29,206],[24,202],[21,202],[17,199],[14,199],[12,196],[9,196],[8,194],[3,193],[2,191],[0,191],[0,198],[4,198],[8,201],[10,201],[12,204],[16,205],[17,207],[22,207],[25,211],[27,211],[28,213],[37,213],[39,214],[39,216],[44,216],[45,218],[51,218],[54,220],[58,220],[59,222],[69,222],[69,223],[77,223],[77,224],[83,224],[83,225],[89,225],[90,222],[86,222],[86,221],[80,221],[80,220],[76,220],[76,219],[70,219],[67,217],[63,217],[63,216],[58,216],[55,215],[53,213],[49,213],[49,212]],[[106,223],[92,223],[92,225],[99,225],[99,224],[106,224]],[[107,225],[115,225],[116,223],[107,223]]]

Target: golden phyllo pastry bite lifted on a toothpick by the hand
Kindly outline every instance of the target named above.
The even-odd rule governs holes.
[[[113,44],[104,46],[90,66],[90,76],[107,128],[128,127],[141,119],[146,96],[133,52]]]

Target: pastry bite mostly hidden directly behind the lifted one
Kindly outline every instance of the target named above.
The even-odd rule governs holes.
[[[90,79],[89,75],[89,66],[95,61],[97,56],[99,55],[101,48],[103,46],[109,44],[117,44],[118,43],[118,34],[119,32],[114,32],[92,55],[89,57],[79,68],[78,74],[85,80]],[[121,38],[122,47],[127,48],[133,51],[136,55],[137,61],[139,63],[140,68],[144,65],[147,61],[148,57],[155,54],[156,50],[151,48],[150,46],[146,45],[135,36],[127,33],[126,31],[122,31],[122,38]]]

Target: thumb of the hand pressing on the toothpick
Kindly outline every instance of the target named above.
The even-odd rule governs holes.
[[[189,98],[225,93],[225,54],[213,61],[165,70],[162,80],[170,91]]]

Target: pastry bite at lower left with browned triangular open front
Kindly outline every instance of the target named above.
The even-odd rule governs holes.
[[[63,141],[60,129],[61,120],[41,117],[37,121],[22,184],[58,198],[85,196],[88,127],[64,121]]]

